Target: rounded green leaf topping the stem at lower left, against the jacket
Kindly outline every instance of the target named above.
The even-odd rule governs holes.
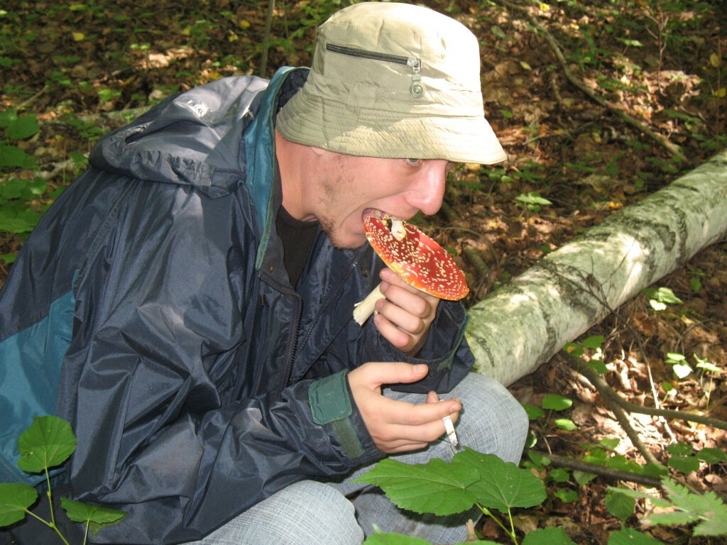
[[[36,416],[17,440],[17,467],[28,473],[43,472],[63,464],[76,450],[71,424],[57,416]]]

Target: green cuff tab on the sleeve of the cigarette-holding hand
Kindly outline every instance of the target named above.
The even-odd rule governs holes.
[[[361,415],[353,410],[346,374],[348,370],[339,371],[310,384],[308,388],[310,412],[316,424],[330,427],[349,459],[360,459],[367,451],[370,457],[370,451],[378,449],[373,445]],[[357,432],[357,429],[361,430],[361,433]],[[366,446],[361,442],[361,435],[364,436]]]

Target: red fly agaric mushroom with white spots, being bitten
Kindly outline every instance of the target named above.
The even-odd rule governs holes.
[[[387,220],[391,221],[391,228]],[[465,282],[465,273],[450,255],[414,225],[401,219],[366,215],[364,231],[383,262],[409,286],[451,301],[462,299],[470,291]],[[374,312],[376,302],[384,297],[380,286],[354,307],[353,319],[359,326],[364,325]]]

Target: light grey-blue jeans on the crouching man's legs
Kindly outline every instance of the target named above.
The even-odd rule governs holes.
[[[425,395],[386,391],[393,399],[424,403]],[[470,374],[448,395],[462,401],[457,436],[462,445],[494,453],[518,463],[525,444],[528,419],[515,398],[502,384]],[[429,448],[398,454],[395,459],[421,464],[429,459],[451,459],[453,451],[443,437]],[[362,467],[339,483],[312,480],[295,483],[273,494],[215,530],[195,545],[360,545],[376,525],[385,532],[404,533],[433,543],[465,540],[465,522],[477,520],[478,509],[450,517],[401,511],[379,488],[351,480],[371,469]],[[358,492],[353,500],[351,496]],[[191,542],[190,542],[191,545]]]

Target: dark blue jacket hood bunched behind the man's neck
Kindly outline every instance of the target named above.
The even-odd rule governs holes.
[[[262,78],[230,77],[168,97],[103,137],[89,162],[123,176],[226,195],[245,179],[241,139],[267,86]]]

